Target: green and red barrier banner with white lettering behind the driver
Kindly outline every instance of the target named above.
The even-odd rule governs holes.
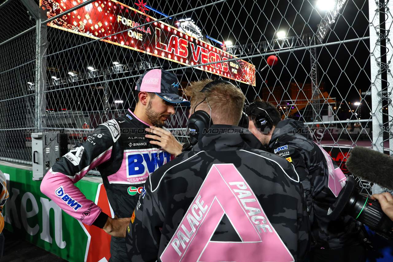
[[[29,242],[71,262],[105,262],[110,258],[110,236],[71,217],[40,191],[32,171],[0,165],[6,174],[9,198],[4,209],[5,228]],[[81,180],[75,185],[86,198],[111,214],[101,183]]]

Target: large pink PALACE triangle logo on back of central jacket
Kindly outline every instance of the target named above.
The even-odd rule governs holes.
[[[226,214],[242,242],[210,241]],[[161,255],[163,262],[293,262],[233,164],[213,165]]]

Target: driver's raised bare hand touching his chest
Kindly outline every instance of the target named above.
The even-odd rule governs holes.
[[[174,138],[171,132],[163,130],[162,128],[159,128],[157,126],[150,126],[150,128],[146,128],[145,130],[156,135],[145,135],[145,137],[147,138],[157,140],[150,141],[151,144],[162,147],[165,151],[174,156],[177,156],[182,152],[182,144],[180,144],[179,141]]]

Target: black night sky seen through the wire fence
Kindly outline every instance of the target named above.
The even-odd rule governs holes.
[[[137,0],[123,1],[124,4],[130,7],[138,8],[135,2],[139,3]],[[248,0],[243,2],[228,0],[197,9],[198,7],[211,3],[213,3],[211,0],[146,1],[147,6],[153,7],[167,15],[188,10],[184,14],[177,15],[173,19],[165,21],[168,24],[174,24],[174,21],[182,18],[191,18],[200,27],[203,35],[208,35],[219,41],[230,40],[235,45],[262,41],[270,42],[272,39],[277,38],[277,31],[285,31],[288,37],[300,37],[301,35],[316,33],[318,25],[326,12],[316,8],[316,0],[304,2],[288,0]],[[158,19],[164,17],[152,10],[146,11],[146,13]],[[332,31],[327,34],[323,43],[368,36],[368,2],[365,0],[347,1],[340,10],[340,15],[332,25]],[[91,38],[74,33],[51,27],[48,28],[47,64],[50,69],[47,71],[48,79],[52,76],[58,78],[67,77],[68,71],[84,73],[87,72],[87,66],[108,68],[113,66],[112,62],[115,60],[122,64],[132,64],[147,60],[153,63],[156,62],[163,68],[178,68],[181,66],[175,62],[154,58],[151,55],[101,41],[91,42],[91,40]],[[218,43],[211,41],[211,44],[216,48],[220,48],[220,44]],[[274,51],[268,52],[271,53]],[[238,83],[249,100],[252,100],[255,95],[260,94],[261,90],[266,87],[287,90],[290,82],[296,83],[299,86],[303,83],[309,84],[311,82],[309,76],[310,53],[308,50],[290,52],[275,50],[275,52],[275,55],[279,59],[277,65],[267,68],[264,71],[260,70],[266,65],[268,55],[264,55],[263,50],[249,54],[256,55],[253,58],[246,58],[244,55],[240,57],[252,63],[257,70],[255,87]],[[356,109],[356,107],[352,104],[348,106],[348,102],[354,103],[359,101],[359,90],[365,92],[371,84],[369,40],[355,40],[354,42],[345,44],[319,47],[316,48],[316,52],[318,59],[318,82],[323,83],[324,91],[328,92],[338,103],[345,103],[345,106],[342,106],[342,112],[338,112],[339,117],[349,118],[347,117],[349,110]],[[132,101],[133,83],[131,83],[132,81],[130,79],[127,80],[127,77],[135,73],[138,72],[112,75],[112,78],[126,78],[126,80],[110,82],[111,94],[109,103],[113,103],[116,99]],[[176,74],[181,82],[194,81],[201,77],[217,77],[200,70],[192,69],[186,71],[178,70]],[[102,78],[98,80],[103,81]],[[90,80],[88,82],[91,82],[90,89],[80,87],[74,88],[73,90],[64,89],[60,92],[49,92],[48,107],[100,110],[100,104],[102,104],[100,99],[102,99],[101,96],[103,95],[102,89],[100,89],[102,84],[95,84],[96,81]],[[81,84],[79,83],[79,85]],[[50,90],[50,88],[48,89]],[[283,102],[282,99],[282,97],[275,97],[277,103]],[[368,100],[366,98],[364,103],[367,103]],[[128,106],[130,105],[129,103]],[[124,106],[126,107],[127,105],[125,104]],[[367,105],[362,104],[362,114],[364,112],[369,114],[369,109]]]

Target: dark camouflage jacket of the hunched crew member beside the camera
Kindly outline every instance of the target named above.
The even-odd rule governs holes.
[[[268,150],[286,158],[299,174],[309,207],[312,248],[360,245],[360,226],[350,216],[338,221],[327,217],[329,207],[345,185],[345,175],[329,154],[312,141],[309,128],[285,119],[273,130]]]

